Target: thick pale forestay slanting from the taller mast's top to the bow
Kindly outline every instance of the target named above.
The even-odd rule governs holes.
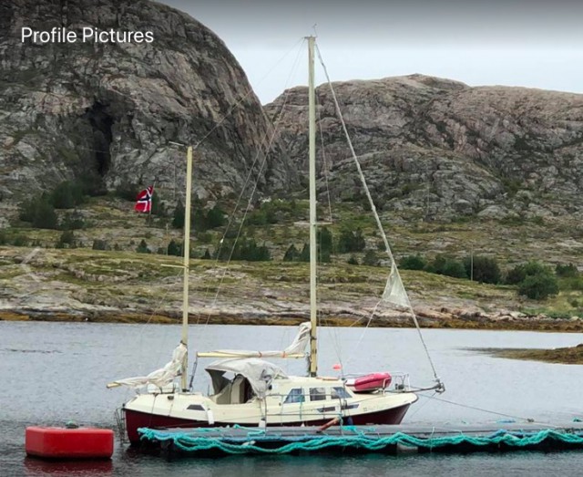
[[[371,197],[371,192],[369,191],[368,186],[366,184],[366,180],[364,178],[364,174],[363,174],[363,170],[361,168],[360,161],[358,161],[358,156],[356,155],[356,152],[355,152],[354,147],[353,147],[353,141],[351,140],[350,134],[348,133],[348,130],[346,128],[346,123],[344,122],[344,119],[343,119],[342,111],[340,109],[340,104],[338,103],[338,99],[336,98],[336,93],[334,91],[334,88],[332,87],[332,81],[330,79],[330,76],[328,75],[328,69],[326,68],[326,65],[323,62],[322,54],[320,52],[320,47],[318,47],[317,44],[316,44],[316,52],[318,54],[318,58],[320,59],[320,63],[322,65],[324,74],[326,76],[326,80],[328,82],[328,86],[330,87],[330,91],[332,93],[332,100],[334,102],[334,107],[336,109],[336,112],[338,113],[340,122],[342,124],[344,136],[348,142],[348,147],[353,155],[354,164],[356,165],[356,169],[359,173],[361,182],[363,184],[364,192],[365,192],[366,197],[368,199],[368,202],[371,206],[371,210],[373,211],[374,220],[376,221],[376,225],[379,229],[379,233],[381,233],[381,237],[383,238],[384,248],[385,248],[386,254],[389,256],[389,259],[391,260],[392,271],[394,269],[396,277],[401,282],[401,275],[399,274],[399,271],[398,271],[397,267],[395,266],[394,256],[393,256],[393,253],[391,252],[391,246],[389,245],[389,241],[386,237],[386,234],[384,233],[384,228],[383,228],[383,224],[381,223],[381,219],[380,219],[378,213],[376,213],[376,207],[374,206],[373,198]],[[437,376],[437,371],[435,370],[435,365],[434,365],[433,359],[431,358],[431,355],[429,353],[429,349],[427,348],[427,345],[425,344],[423,334],[421,333],[421,327],[419,327],[419,322],[417,320],[417,316],[415,316],[413,306],[411,305],[411,302],[409,301],[409,296],[407,296],[406,294],[405,294],[405,299],[406,299],[407,308],[408,308],[409,312],[411,313],[411,316],[413,316],[414,325],[415,325],[415,328],[416,328],[417,333],[419,335],[419,338],[421,340],[421,343],[424,347],[425,355],[426,355],[426,357],[429,361],[429,364],[433,370],[435,382],[438,385],[437,389],[440,389],[443,391],[443,390],[445,390],[445,387],[443,386],[441,379]],[[379,302],[380,302],[380,300],[379,300]],[[377,304],[377,306],[378,306],[378,304]],[[374,309],[376,310],[376,306]],[[373,316],[371,316],[371,318],[369,319],[369,324],[370,324],[372,317]],[[367,324],[367,327],[368,327],[368,324]]]

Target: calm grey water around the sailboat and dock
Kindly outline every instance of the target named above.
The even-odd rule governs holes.
[[[191,327],[191,348],[281,348],[292,340],[287,327]],[[583,342],[578,334],[426,330],[424,337],[447,392],[443,399],[422,397],[407,422],[455,423],[507,419],[497,413],[535,420],[572,420],[583,415],[579,366],[492,358],[477,347],[566,347]],[[583,454],[517,452],[506,455],[403,455],[360,457],[227,457],[167,462],[136,455],[117,445],[114,458],[101,463],[45,463],[25,458],[27,425],[62,425],[66,420],[113,427],[113,413],[131,390],[106,389],[114,378],[148,373],[169,360],[179,327],[0,322],[0,475],[496,475],[579,474]],[[426,385],[432,374],[414,330],[323,328],[320,374],[407,371],[412,384]],[[282,361],[302,372],[303,363]],[[209,381],[201,363],[195,388]]]

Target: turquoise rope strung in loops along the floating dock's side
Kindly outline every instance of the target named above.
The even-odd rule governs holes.
[[[444,446],[458,446],[469,444],[476,447],[492,444],[506,444],[508,447],[525,448],[541,444],[544,441],[557,441],[566,444],[583,444],[583,435],[557,430],[540,430],[534,433],[510,432],[497,430],[486,437],[472,437],[468,435],[456,435],[445,437],[418,438],[404,432],[396,432],[385,437],[377,437],[359,432],[353,435],[330,436],[310,435],[282,436],[279,433],[261,433],[255,430],[253,435],[236,437],[233,435],[221,435],[218,437],[204,436],[204,432],[197,435],[196,431],[168,432],[140,428],[141,440],[153,442],[173,443],[177,449],[186,452],[197,451],[222,451],[228,454],[260,453],[260,454],[285,454],[296,451],[322,451],[330,448],[359,449],[367,451],[382,451],[388,446],[400,444],[411,448],[435,449]],[[260,435],[261,434],[261,435]],[[261,444],[269,443],[268,447]],[[281,444],[274,447],[274,444]]]

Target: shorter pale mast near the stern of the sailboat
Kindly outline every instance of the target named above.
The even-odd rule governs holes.
[[[189,270],[190,270],[190,191],[192,189],[192,146],[189,146],[186,154],[186,204],[184,206],[184,276],[182,278],[182,336],[180,342],[189,347]],[[180,374],[180,387],[182,391],[187,388],[187,375],[189,371],[188,351],[182,362]]]

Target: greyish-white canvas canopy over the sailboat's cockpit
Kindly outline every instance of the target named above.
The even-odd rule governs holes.
[[[223,374],[231,372],[247,378],[255,394],[261,399],[270,389],[273,379],[287,378],[280,367],[258,358],[220,359],[210,363],[205,369],[210,374],[215,391],[222,389],[224,383],[227,382],[223,378]]]

